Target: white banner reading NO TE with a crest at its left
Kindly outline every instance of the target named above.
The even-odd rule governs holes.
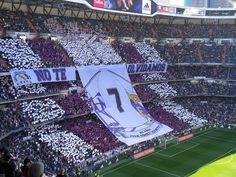
[[[75,67],[11,70],[10,74],[14,86],[76,80]]]

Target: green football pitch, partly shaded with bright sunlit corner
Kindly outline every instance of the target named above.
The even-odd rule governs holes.
[[[138,160],[125,160],[101,172],[102,177],[235,177],[236,131],[205,130],[193,138]]]

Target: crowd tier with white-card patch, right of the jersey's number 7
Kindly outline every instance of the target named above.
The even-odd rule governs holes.
[[[196,83],[197,82],[197,83]],[[155,98],[167,99],[183,96],[235,96],[234,83],[208,83],[206,81],[169,82],[160,84],[137,85],[135,90],[141,100],[153,100]]]

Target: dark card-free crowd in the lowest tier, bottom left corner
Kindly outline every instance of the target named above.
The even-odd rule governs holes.
[[[31,136],[30,133],[20,132],[8,136],[2,140],[1,145],[5,147],[2,150],[10,151],[8,153],[17,163],[22,163],[26,158],[32,162],[43,162],[45,174],[48,176],[59,173],[63,168],[68,175],[75,176],[76,167],[73,164],[69,165],[62,154],[52,151],[49,146],[40,142],[38,137]]]

